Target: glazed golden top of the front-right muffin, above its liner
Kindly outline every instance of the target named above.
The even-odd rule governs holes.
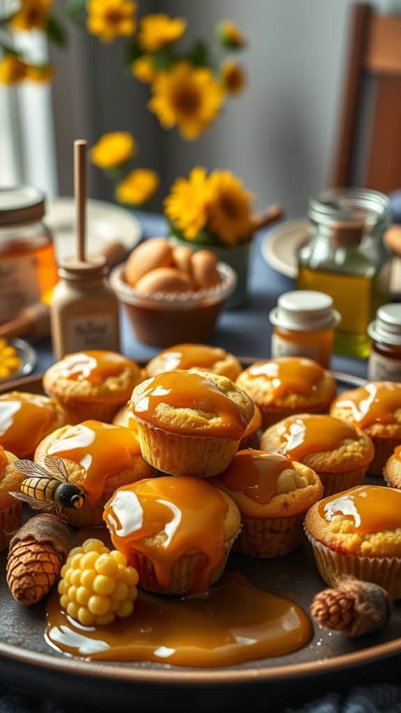
[[[340,555],[401,557],[401,492],[359,486],[336,493],[310,508],[305,528]]]

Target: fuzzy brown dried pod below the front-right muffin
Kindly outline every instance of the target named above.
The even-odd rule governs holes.
[[[392,605],[387,592],[372,582],[353,577],[337,580],[336,587],[319,592],[310,613],[321,629],[350,637],[379,631],[387,624]]]

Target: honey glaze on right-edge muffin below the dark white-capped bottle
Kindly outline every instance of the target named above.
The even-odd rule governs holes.
[[[401,409],[401,384],[372,381],[360,389],[345,391],[335,401],[335,407],[351,409],[352,419],[361,429],[377,423],[394,424],[394,412]]]

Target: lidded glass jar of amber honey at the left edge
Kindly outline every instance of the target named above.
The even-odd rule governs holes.
[[[0,324],[43,299],[57,282],[44,194],[31,186],[0,188]]]

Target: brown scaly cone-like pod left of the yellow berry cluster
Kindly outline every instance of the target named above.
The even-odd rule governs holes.
[[[68,551],[67,526],[49,513],[36,515],[22,525],[11,540],[7,558],[7,584],[17,602],[36,604],[59,577]]]

